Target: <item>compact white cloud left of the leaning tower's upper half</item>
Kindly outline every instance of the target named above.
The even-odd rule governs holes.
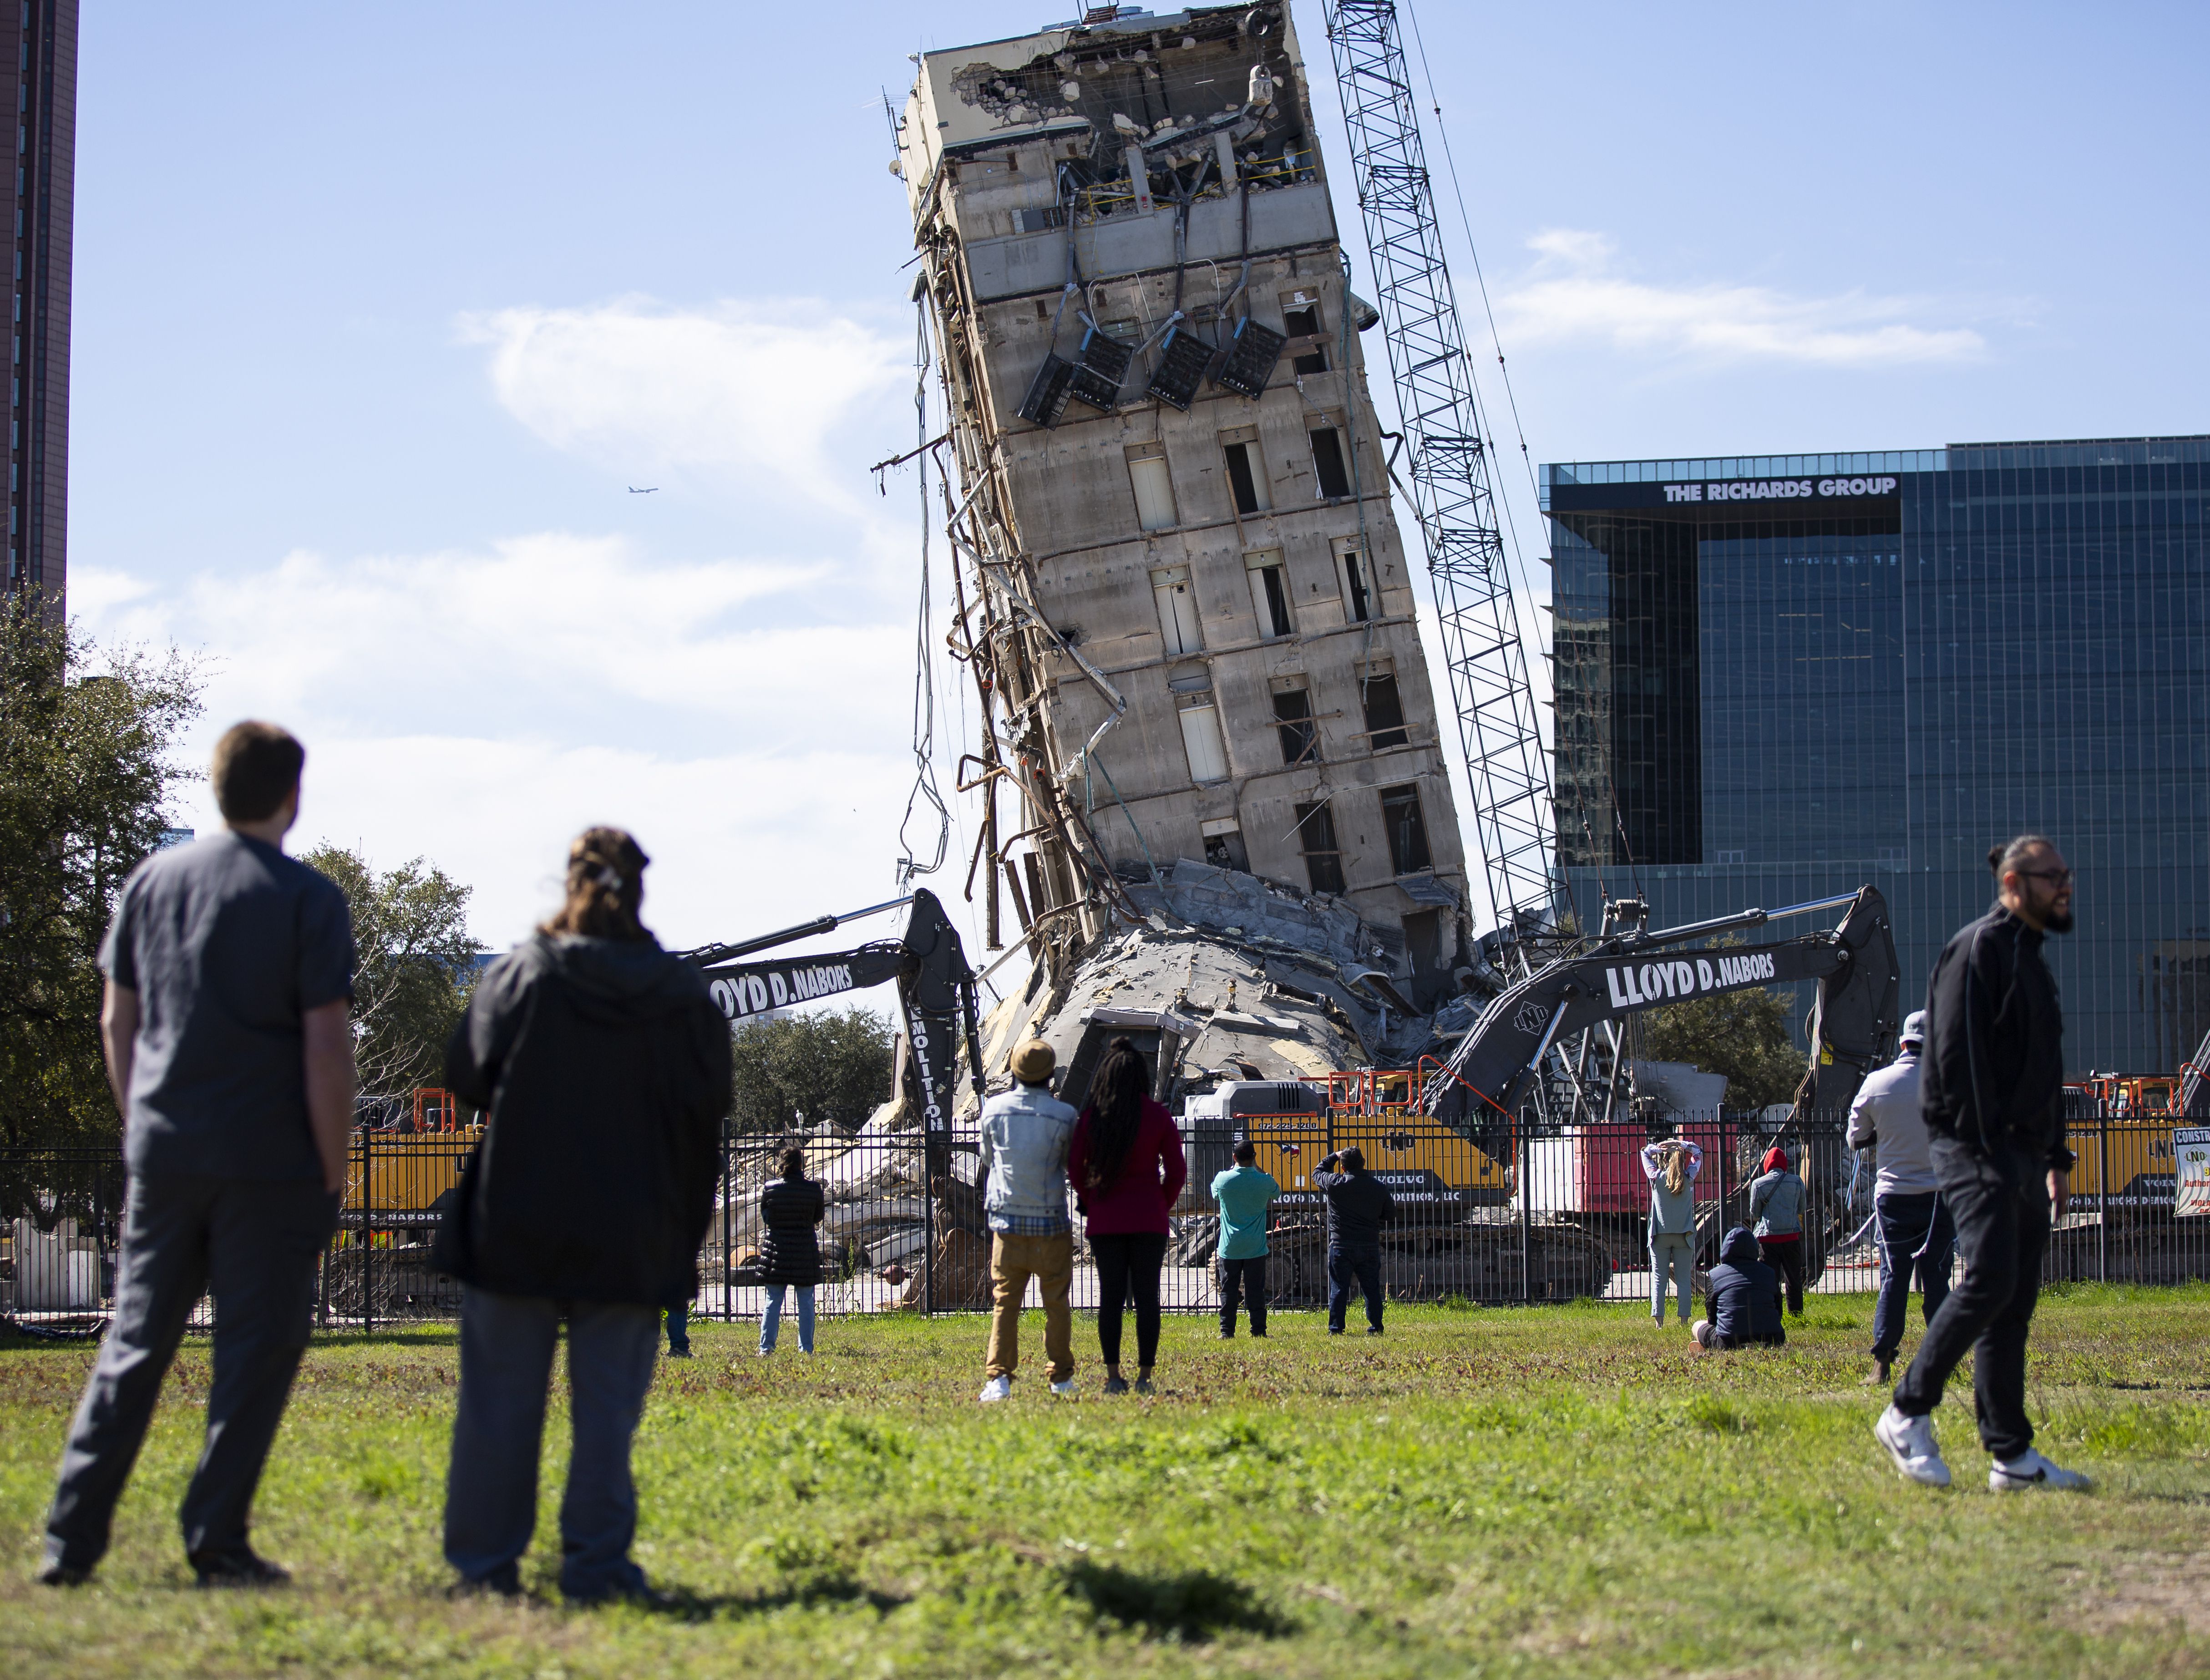
[[[862,486],[829,438],[913,382],[911,347],[818,305],[617,298],[471,314],[460,332],[491,347],[499,405],[555,449],[846,511]]]

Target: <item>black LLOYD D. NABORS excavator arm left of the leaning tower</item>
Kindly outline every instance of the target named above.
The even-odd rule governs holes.
[[[833,933],[844,922],[882,915],[904,904],[913,906],[906,933],[897,939],[875,939],[857,951],[811,953],[804,957],[767,957],[745,962],[758,951]],[[869,904],[846,915],[822,915],[780,933],[762,933],[738,944],[698,946],[681,953],[705,973],[707,988],[732,1026],[765,1017],[791,1004],[835,997],[866,986],[897,981],[897,1008],[906,1028],[906,1070],[922,1110],[930,1161],[941,1169],[948,1158],[953,1105],[959,1094],[959,1039],[966,1037],[968,1074],[981,1096],[981,1032],[977,1030],[975,970],[968,968],[959,931],[944,915],[944,904],[926,889],[906,897]]]

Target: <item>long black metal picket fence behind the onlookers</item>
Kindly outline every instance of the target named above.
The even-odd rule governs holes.
[[[1580,1127],[1496,1114],[1472,1136],[1417,1116],[1246,1114],[1182,1123],[1189,1180],[1169,1220],[1160,1302],[1171,1313],[1218,1311],[1220,1214],[1211,1183],[1233,1165],[1235,1143],[1249,1141],[1257,1165],[1284,1187],[1269,1214],[1266,1289],[1275,1309],[1326,1304],[1326,1200],[1311,1176],[1346,1145],[1364,1152],[1397,1203],[1381,1233],[1390,1300],[1646,1304],[1651,1189],[1640,1152],[1662,1136],[1704,1152],[1695,1180],[1697,1293],[1726,1229],[1750,1222],[1750,1187],[1772,1145],[1788,1152],[1806,1185],[1810,1291],[1878,1287],[1876,1156],[1848,1147],[1841,1114],[1783,1125],[1711,1114]],[[2080,1161],[2071,1209],[2042,1262],[2046,1284],[2210,1278],[2210,1198],[2195,1189],[2210,1169],[2210,1127],[2091,1114],[2069,1121],[2069,1143]],[[725,1141],[694,1317],[760,1317],[760,1191],[791,1145],[804,1147],[807,1172],[827,1191],[818,1315],[972,1313],[990,1304],[990,1231],[975,1185],[972,1132],[926,1141],[917,1132],[815,1132]],[[469,1132],[354,1138],[345,1203],[316,1280],[320,1331],[457,1317],[460,1284],[431,1264],[431,1238],[473,1147]],[[110,1149],[0,1152],[0,1313],[9,1322],[44,1335],[99,1333],[115,1300],[124,1194],[124,1163]],[[1072,1198],[1070,1222],[1074,1306],[1094,1309],[1098,1278]],[[1036,1304],[1034,1287],[1028,1302]],[[214,1304],[201,1300],[192,1326],[208,1329],[212,1315]]]

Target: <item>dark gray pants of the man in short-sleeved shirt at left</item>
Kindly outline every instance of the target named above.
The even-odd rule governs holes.
[[[179,1519],[188,1556],[245,1547],[245,1523],[314,1329],[314,1269],[338,1198],[314,1178],[133,1176],[115,1322],[69,1426],[46,1561],[91,1569],[186,1320],[214,1291],[208,1437]]]

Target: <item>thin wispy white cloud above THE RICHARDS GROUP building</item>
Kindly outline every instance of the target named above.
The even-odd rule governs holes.
[[[1527,241],[1536,263],[1498,296],[1514,343],[1596,340],[1682,360],[1896,367],[1980,356],[1971,327],[1925,327],[1923,298],[1843,292],[1801,298],[1761,285],[1649,285],[1616,267],[1611,239],[1554,228]]]

